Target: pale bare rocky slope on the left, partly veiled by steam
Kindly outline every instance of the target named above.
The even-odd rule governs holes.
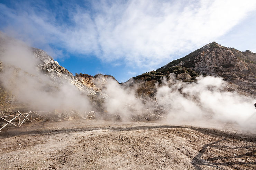
[[[9,89],[6,87],[7,85],[4,83],[4,81],[13,81],[16,79],[15,75],[12,75],[13,77],[9,76],[11,69],[13,67],[17,67],[18,70],[22,71],[22,68],[19,68],[19,63],[15,63],[15,60],[13,60],[13,65],[11,63],[10,66],[5,67],[5,63],[2,62],[4,52],[9,48],[10,44],[16,44],[17,50],[20,50],[19,48],[21,46],[24,46],[25,48],[28,48],[29,52],[35,57],[36,59],[36,65],[34,70],[40,70],[42,74],[39,76],[36,75],[36,71],[32,70],[31,72],[24,71],[25,76],[30,75],[32,79],[34,79],[37,82],[45,83],[45,90],[44,91],[56,91],[60,88],[62,88],[64,85],[69,84],[69,87],[75,87],[77,88],[82,95],[88,96],[89,99],[92,101],[92,104],[95,105],[95,108],[98,108],[101,110],[101,103],[104,98],[108,98],[108,95],[101,92],[101,89],[95,84],[93,84],[93,78],[90,76],[81,76],[76,75],[73,76],[71,72],[69,72],[64,67],[60,66],[57,61],[54,61],[54,59],[51,56],[48,56],[48,54],[40,49],[27,47],[26,45],[17,42],[17,40],[12,39],[10,37],[5,36],[3,33],[0,32],[0,75],[1,75],[1,81],[0,81],[0,105],[1,105],[1,111],[4,110],[26,110],[26,105],[24,105],[22,102],[17,101],[15,95],[13,95],[13,91],[15,89]],[[18,45],[17,45],[18,44]],[[23,47],[22,47],[23,48]],[[21,54],[22,52],[20,52]],[[21,54],[22,55],[22,54]],[[31,58],[33,60],[33,58]],[[27,61],[24,61],[26,63]],[[33,63],[33,62],[31,62]],[[30,67],[30,66],[27,66]],[[11,68],[11,69],[10,69]],[[8,74],[7,74],[8,72]],[[11,74],[16,74],[16,71],[12,71]],[[42,76],[43,75],[43,76]],[[83,74],[85,75],[85,74]],[[100,76],[100,75],[98,75]],[[47,78],[45,78],[47,77]],[[97,77],[97,76],[96,76]],[[96,78],[95,77],[95,78]],[[104,75],[102,76],[104,78]],[[46,82],[47,81],[47,82]],[[16,84],[19,84],[17,80],[15,80]],[[20,83],[20,85],[22,85]],[[37,84],[38,85],[38,84]],[[42,86],[42,87],[44,87]],[[16,86],[17,87],[17,86]],[[40,87],[41,88],[41,87]],[[67,90],[68,91],[68,90]]]

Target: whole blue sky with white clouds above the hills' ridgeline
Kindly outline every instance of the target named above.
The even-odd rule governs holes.
[[[216,41],[256,52],[255,0],[0,0],[0,31],[125,82]]]

